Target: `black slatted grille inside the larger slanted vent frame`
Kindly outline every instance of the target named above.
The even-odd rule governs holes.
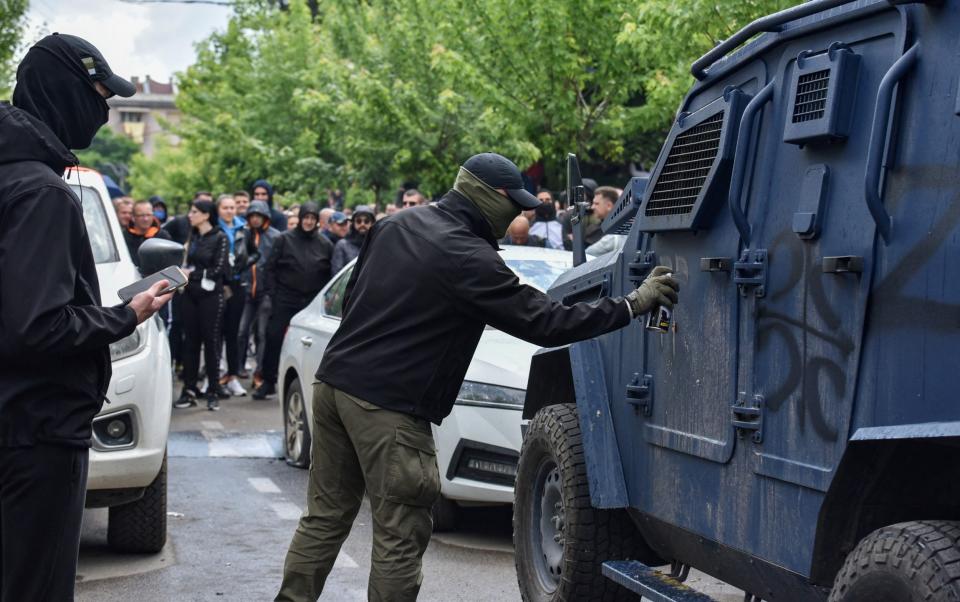
[[[677,136],[645,215],[685,215],[693,211],[720,149],[723,115],[721,111]]]

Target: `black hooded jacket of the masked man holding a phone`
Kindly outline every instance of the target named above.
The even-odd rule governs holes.
[[[75,163],[44,123],[0,104],[0,447],[89,445],[109,345],[137,325],[129,307],[100,306],[83,210],[61,179]]]

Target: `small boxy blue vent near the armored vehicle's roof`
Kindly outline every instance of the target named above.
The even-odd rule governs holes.
[[[850,135],[860,57],[843,44],[800,53],[793,64],[783,141],[835,143]]]

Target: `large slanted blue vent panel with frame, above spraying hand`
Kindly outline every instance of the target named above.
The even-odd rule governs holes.
[[[637,214],[640,230],[709,226],[730,184],[740,115],[748,96],[737,88],[703,108],[681,114],[660,153]]]

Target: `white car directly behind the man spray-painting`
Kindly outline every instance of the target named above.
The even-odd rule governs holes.
[[[504,261],[520,280],[547,290],[571,266],[568,251],[507,246]],[[280,355],[280,406],[287,462],[310,463],[314,374],[340,325],[348,264],[306,309],[294,316]],[[530,359],[539,349],[487,327],[467,370],[453,412],[434,425],[441,500],[434,528],[453,526],[458,505],[512,504],[522,435],[520,416]]]

